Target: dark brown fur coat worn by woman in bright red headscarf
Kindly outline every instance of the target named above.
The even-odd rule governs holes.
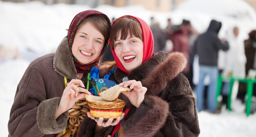
[[[125,137],[198,137],[200,133],[196,101],[187,78],[181,74],[186,59],[181,53],[158,52],[128,74],[130,80],[140,80],[147,92],[140,107],[132,106],[122,122]],[[115,69],[118,83],[127,76]],[[126,106],[127,107],[127,106]],[[103,128],[94,135],[96,122],[85,118],[79,128],[79,137],[107,137],[113,126]]]

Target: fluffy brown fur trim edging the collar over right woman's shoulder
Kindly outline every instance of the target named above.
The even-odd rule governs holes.
[[[148,87],[148,95],[157,95],[167,83],[175,78],[185,68],[186,57],[180,52],[171,53],[164,62],[160,63],[150,74],[141,81],[144,87]],[[156,86],[157,85],[157,86]]]

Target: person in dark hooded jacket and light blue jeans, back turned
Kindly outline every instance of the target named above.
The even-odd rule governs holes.
[[[209,75],[210,84],[207,91],[207,109],[215,112],[217,109],[216,88],[218,72],[218,51],[228,50],[227,42],[218,38],[221,22],[211,20],[208,30],[195,40],[195,54],[199,57],[199,83],[195,87],[198,111],[204,109],[204,78]]]

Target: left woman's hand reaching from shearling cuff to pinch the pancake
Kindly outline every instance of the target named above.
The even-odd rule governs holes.
[[[77,87],[75,84],[79,84]],[[83,82],[79,79],[72,79],[67,87],[64,89],[61,101],[58,104],[58,108],[55,114],[55,118],[59,117],[62,113],[72,108],[77,100],[85,98],[85,94],[90,94],[90,92],[84,88]],[[82,92],[78,95],[78,92]]]

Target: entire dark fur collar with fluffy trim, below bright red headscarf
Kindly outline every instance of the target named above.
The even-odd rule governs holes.
[[[140,80],[148,88],[146,94],[158,95],[186,66],[186,57],[180,52],[168,54],[160,51],[155,56],[145,61],[142,65],[128,74],[130,80]],[[119,68],[115,69],[115,78],[118,83],[127,76]]]

